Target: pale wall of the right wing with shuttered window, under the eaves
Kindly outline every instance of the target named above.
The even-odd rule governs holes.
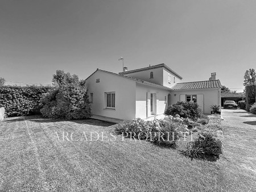
[[[220,88],[216,89],[196,89],[196,90],[178,90],[171,93],[171,104],[175,104],[180,101],[180,95],[187,94],[203,94],[204,95],[204,113],[210,114],[212,105],[221,105]],[[176,94],[176,96],[174,95]]]

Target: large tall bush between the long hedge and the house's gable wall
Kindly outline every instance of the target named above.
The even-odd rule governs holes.
[[[84,119],[91,115],[89,96],[84,80],[57,70],[53,76],[56,87],[41,101],[42,115],[47,118]]]

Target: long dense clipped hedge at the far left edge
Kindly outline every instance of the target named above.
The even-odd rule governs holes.
[[[0,107],[5,107],[6,116],[40,114],[40,98],[51,87],[0,86]]]

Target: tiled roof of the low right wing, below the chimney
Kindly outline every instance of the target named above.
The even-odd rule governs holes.
[[[185,90],[185,89],[211,89],[221,87],[220,80],[213,81],[196,81],[196,82],[185,82],[177,83],[172,89],[174,90]]]

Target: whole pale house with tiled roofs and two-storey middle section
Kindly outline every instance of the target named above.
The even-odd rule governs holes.
[[[220,105],[221,83],[212,73],[209,81],[181,82],[182,77],[165,64],[112,73],[97,69],[86,78],[92,114],[115,119],[146,119],[163,114],[178,101],[199,104],[205,114]]]

